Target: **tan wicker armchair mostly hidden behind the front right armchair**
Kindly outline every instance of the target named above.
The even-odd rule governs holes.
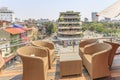
[[[79,55],[81,58],[83,58],[84,55],[84,47],[86,45],[94,45],[98,43],[98,39],[87,39],[87,40],[83,40],[79,43]]]

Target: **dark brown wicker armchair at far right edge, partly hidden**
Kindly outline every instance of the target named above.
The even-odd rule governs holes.
[[[109,58],[108,58],[108,65],[111,68],[114,56],[115,56],[116,51],[117,51],[118,47],[120,46],[120,44],[113,43],[113,42],[108,42],[108,41],[104,41],[104,43],[108,43],[112,46],[112,50],[111,50],[111,53],[109,54]]]

